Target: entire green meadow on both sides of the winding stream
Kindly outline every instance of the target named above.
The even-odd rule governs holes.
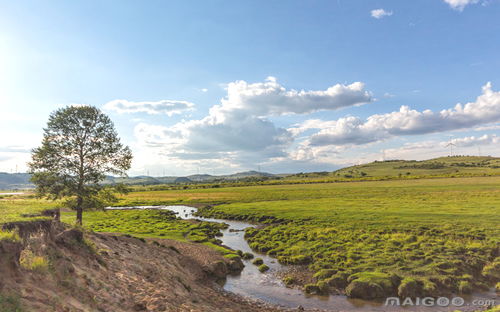
[[[26,204],[26,205],[25,205]],[[248,220],[255,250],[307,266],[311,293],[376,298],[469,293],[500,282],[500,176],[280,184],[150,191],[137,188],[117,206],[184,204],[203,216]],[[57,203],[0,199],[3,221]],[[72,223],[74,214],[63,212]],[[220,225],[160,211],[87,211],[99,232],[202,242],[214,248]],[[221,249],[221,248],[219,248]],[[222,252],[226,252],[222,250]],[[498,286],[497,286],[498,287]]]

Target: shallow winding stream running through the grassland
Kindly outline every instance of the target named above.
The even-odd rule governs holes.
[[[251,252],[255,257],[262,258],[264,263],[270,268],[265,273],[259,272],[257,267],[251,263],[251,260],[243,260],[245,268],[239,275],[228,276],[224,289],[239,295],[250,297],[253,299],[263,300],[284,307],[302,306],[306,309],[324,309],[331,311],[473,311],[478,309],[477,305],[473,305],[474,300],[495,300],[498,303],[495,292],[473,294],[467,296],[465,304],[461,307],[450,305],[448,307],[425,307],[425,306],[405,306],[391,307],[385,306],[383,302],[366,301],[360,299],[349,299],[346,296],[311,296],[303,293],[299,289],[290,289],[285,287],[276,273],[281,270],[286,270],[286,266],[279,264],[276,259],[265,254],[255,252],[250,249],[247,241],[244,238],[243,231],[248,227],[255,227],[255,224],[250,224],[241,221],[211,219],[194,216],[196,208],[188,206],[137,206],[137,207],[114,207],[108,209],[165,209],[171,210],[182,219],[196,219],[200,221],[226,223],[229,227],[222,231],[223,236],[218,237],[222,243],[234,250],[243,252]],[[477,301],[476,301],[477,302]]]

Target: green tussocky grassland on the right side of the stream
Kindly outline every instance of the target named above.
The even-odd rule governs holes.
[[[221,200],[231,201],[226,190],[219,191]],[[308,265],[318,281],[306,285],[313,292],[336,288],[362,297],[359,287],[378,285],[365,293],[438,295],[499,281],[500,177],[239,192],[242,202],[205,208],[202,214],[271,223],[247,231],[251,247],[285,264]],[[215,195],[210,192],[207,200]]]

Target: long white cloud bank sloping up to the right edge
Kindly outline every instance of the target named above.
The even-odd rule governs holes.
[[[366,144],[400,135],[427,134],[470,128],[500,121],[500,92],[491,83],[475,102],[457,104],[454,108],[433,112],[412,110],[401,106],[399,111],[376,114],[363,120],[348,116],[327,123],[304,123],[296,132],[316,127],[319,132],[309,139],[311,145]],[[317,124],[317,126],[315,126]]]

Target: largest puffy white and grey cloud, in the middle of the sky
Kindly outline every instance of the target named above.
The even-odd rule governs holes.
[[[287,90],[273,77],[261,83],[235,81],[227,85],[227,96],[205,118],[170,127],[140,123],[135,136],[144,146],[161,148],[166,155],[181,159],[268,159],[286,155],[284,150],[293,142],[293,134],[277,127],[270,116],[336,110],[370,101],[371,94],[360,82],[297,91]]]

